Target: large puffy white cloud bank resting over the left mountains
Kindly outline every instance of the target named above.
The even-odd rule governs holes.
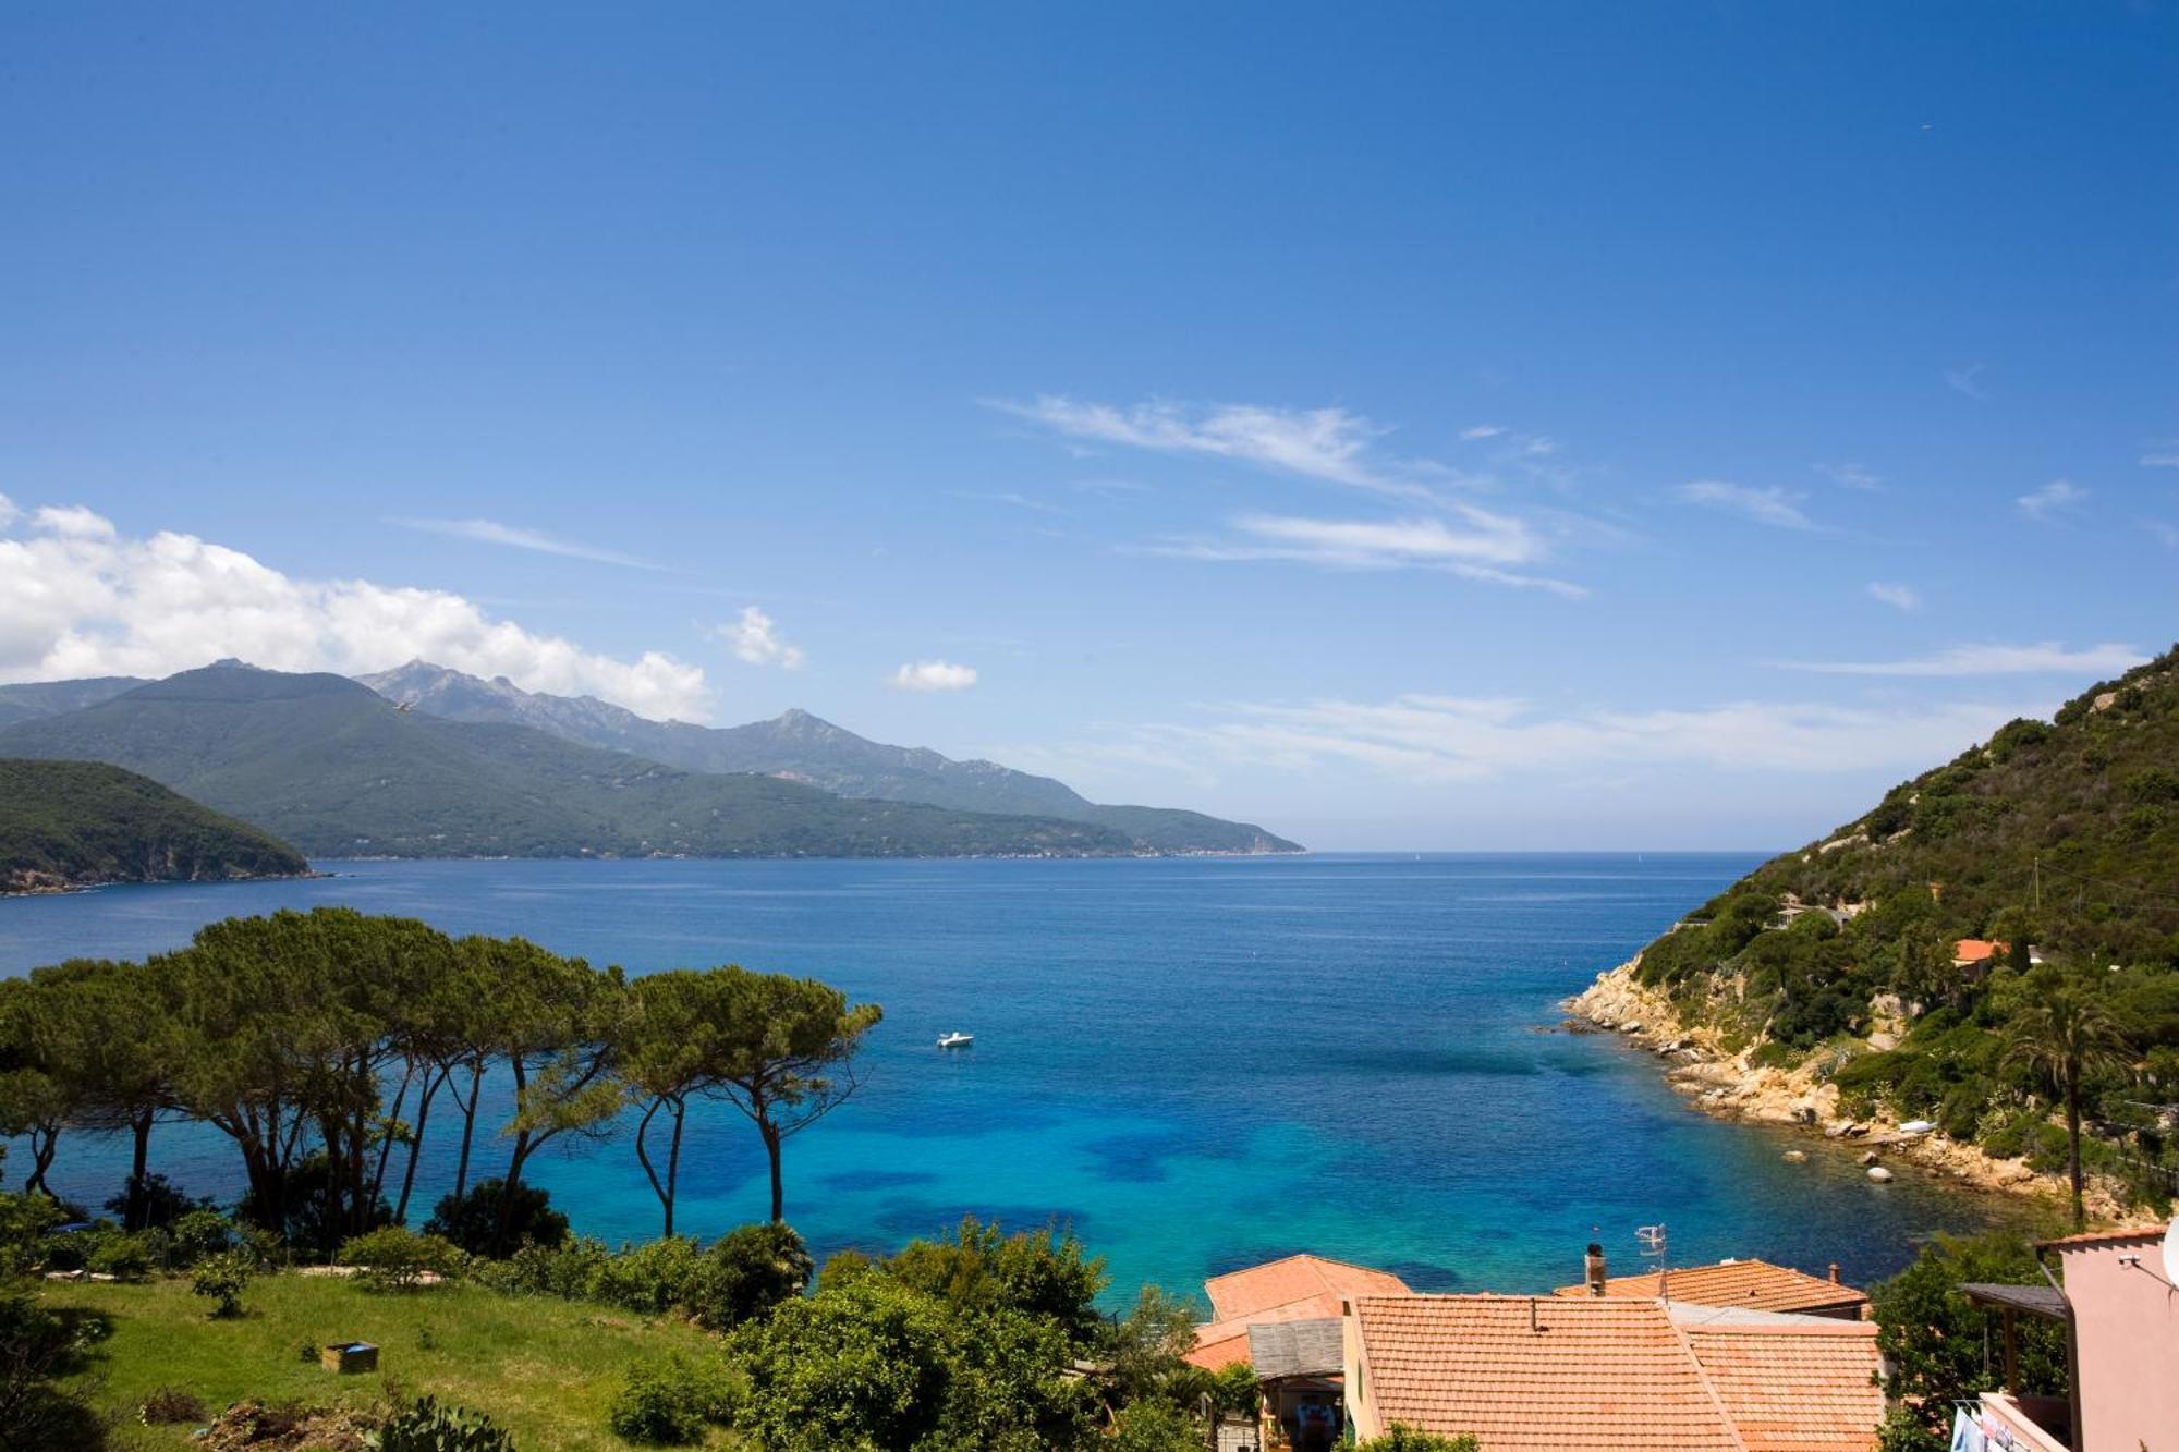
[[[296,580],[194,534],[124,539],[81,506],[0,536],[0,680],[170,676],[220,656],[349,676],[425,658],[643,715],[708,715],[702,667],[588,652],[447,591]]]

